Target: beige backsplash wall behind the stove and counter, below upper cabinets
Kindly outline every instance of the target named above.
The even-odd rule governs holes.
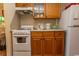
[[[54,25],[59,23],[58,19],[34,19],[31,15],[25,15],[20,17],[21,25],[38,25],[39,23],[53,23]]]

